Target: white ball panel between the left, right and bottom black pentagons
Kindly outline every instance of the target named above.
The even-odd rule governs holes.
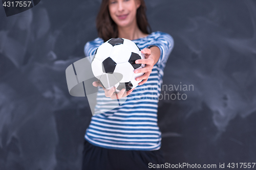
[[[134,68],[129,62],[120,63],[116,65],[115,72],[122,74],[122,80],[120,82],[129,82],[132,78]]]

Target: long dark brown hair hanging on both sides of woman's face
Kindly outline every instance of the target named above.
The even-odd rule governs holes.
[[[152,32],[150,24],[146,18],[146,5],[144,0],[140,1],[140,7],[137,9],[136,19],[139,29],[144,34],[150,34]],[[109,12],[109,0],[102,0],[99,13],[96,18],[96,28],[98,36],[105,41],[111,38],[118,37],[118,29],[116,23],[110,16]],[[148,30],[149,29],[149,30]]]

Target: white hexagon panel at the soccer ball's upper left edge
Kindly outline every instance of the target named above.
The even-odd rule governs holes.
[[[113,48],[113,46],[109,43],[101,44],[97,49],[95,58],[101,62],[104,61],[106,58],[108,58],[110,56],[112,48]]]

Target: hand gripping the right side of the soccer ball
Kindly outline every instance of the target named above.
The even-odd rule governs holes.
[[[136,64],[146,64],[145,67],[134,70],[135,73],[144,72],[144,75],[137,77],[135,80],[143,80],[139,83],[139,86],[146,83],[148,77],[150,76],[153,66],[154,66],[154,58],[151,56],[150,48],[144,48],[140,51],[145,55],[145,59],[136,60]]]

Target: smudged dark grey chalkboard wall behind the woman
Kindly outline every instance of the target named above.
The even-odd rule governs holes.
[[[91,119],[68,92],[65,70],[97,37],[100,0],[42,0],[6,17],[0,7],[0,169],[80,169]],[[153,31],[173,36],[160,100],[165,162],[256,160],[256,2],[146,0]],[[255,168],[255,167],[254,167]],[[218,169],[218,168],[216,168]]]

